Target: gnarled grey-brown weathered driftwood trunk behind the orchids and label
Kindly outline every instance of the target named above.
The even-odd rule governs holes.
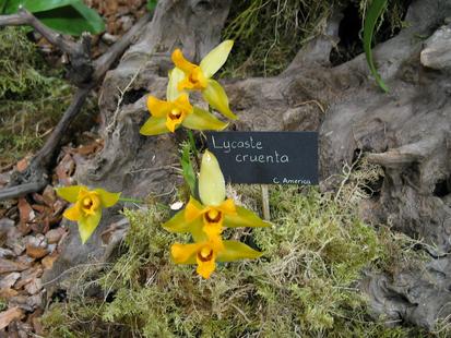
[[[158,1],[146,31],[104,81],[99,106],[105,148],[79,166],[81,183],[122,191],[130,197],[170,194],[180,179],[174,170],[178,135],[139,134],[149,117],[145,95],[164,97],[173,67],[169,57],[176,47],[199,61],[219,41],[229,5],[230,1],[221,0]],[[366,202],[368,220],[422,239],[431,258],[416,269],[405,270],[400,263],[393,275],[368,275],[363,289],[376,315],[429,329],[437,318],[451,313],[451,77],[447,61],[430,63],[430,49],[438,55],[442,49],[435,47],[432,38],[420,37],[449,29],[440,27],[450,15],[450,1],[413,1],[405,19],[408,27],[375,48],[389,94],[375,85],[363,55],[330,64],[330,52],[339,40],[340,9],[323,34],[299,50],[278,76],[222,81],[239,116],[230,129],[319,131],[323,180],[341,172],[359,150],[384,168],[380,193]],[[422,64],[423,60],[429,58],[429,63]],[[332,185],[323,181],[321,188]],[[87,255],[105,259],[99,233],[114,214],[115,209],[106,213],[99,231],[82,250],[72,231],[58,268],[47,280],[85,263]]]

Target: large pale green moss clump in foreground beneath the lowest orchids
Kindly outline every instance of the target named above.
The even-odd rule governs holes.
[[[245,203],[258,193],[237,190]],[[358,292],[360,270],[378,266],[385,246],[355,203],[312,188],[273,186],[270,196],[273,227],[226,232],[264,256],[218,264],[209,280],[171,263],[170,244],[189,239],[161,228],[166,207],[126,210],[131,225],[120,257],[78,288],[102,292],[73,292],[62,316],[61,304],[46,314],[47,329],[52,337],[408,337],[371,322]]]

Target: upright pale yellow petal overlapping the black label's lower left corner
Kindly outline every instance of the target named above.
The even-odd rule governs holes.
[[[216,157],[205,150],[199,174],[199,196],[204,205],[218,206],[225,198],[225,181]]]

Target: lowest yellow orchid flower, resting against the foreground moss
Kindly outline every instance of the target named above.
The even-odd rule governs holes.
[[[245,258],[258,258],[262,255],[250,246],[238,241],[224,241],[224,246],[217,246],[211,241],[199,243],[180,244],[175,243],[170,248],[173,259],[176,264],[198,264],[197,273],[203,278],[216,268],[217,262],[234,262]]]

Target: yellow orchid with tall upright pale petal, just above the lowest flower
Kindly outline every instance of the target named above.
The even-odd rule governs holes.
[[[205,150],[202,156],[199,176],[199,195],[201,202],[190,197],[186,208],[178,212],[163,225],[170,232],[191,232],[197,242],[209,239],[221,248],[224,227],[268,227],[252,212],[226,200],[225,180],[216,157]]]

